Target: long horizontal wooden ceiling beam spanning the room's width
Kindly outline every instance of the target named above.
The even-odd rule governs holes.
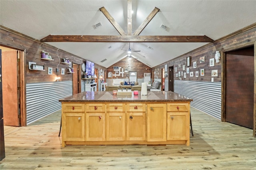
[[[42,42],[151,42],[151,43],[210,43],[206,35],[192,36],[149,36],[149,35],[48,35]]]

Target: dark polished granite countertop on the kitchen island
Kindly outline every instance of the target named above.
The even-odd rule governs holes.
[[[112,92],[82,92],[60,99],[59,102],[192,102],[191,98],[174,92],[153,91],[148,95],[113,95]]]

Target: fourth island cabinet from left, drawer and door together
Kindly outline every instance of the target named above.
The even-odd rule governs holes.
[[[146,104],[127,104],[126,140],[146,141]]]

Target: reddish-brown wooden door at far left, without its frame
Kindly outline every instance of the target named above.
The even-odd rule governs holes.
[[[18,107],[17,51],[2,51],[2,93],[4,125],[20,126]]]

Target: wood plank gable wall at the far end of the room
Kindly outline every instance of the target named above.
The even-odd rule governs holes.
[[[124,77],[127,77],[126,74],[129,75],[129,71],[137,71],[138,79],[144,78],[144,73],[151,73],[151,68],[149,66],[147,66],[146,64],[141,63],[137,59],[125,57],[124,59],[116,62],[115,64],[113,64],[112,66],[109,66],[107,68],[107,74],[108,74],[108,72],[112,72],[112,74],[113,74],[112,78],[124,78],[124,77],[122,77],[122,74],[120,74],[120,76],[116,76],[116,77],[114,76],[115,71],[113,69],[113,66],[119,66],[124,69],[128,68],[128,72],[124,73]],[[121,69],[121,71],[122,71],[122,69]]]

